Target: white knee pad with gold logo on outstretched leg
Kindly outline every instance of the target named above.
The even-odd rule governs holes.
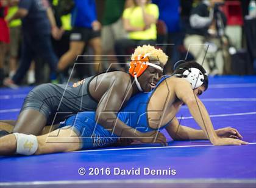
[[[21,155],[33,155],[38,148],[37,136],[13,133],[16,138],[16,153]]]

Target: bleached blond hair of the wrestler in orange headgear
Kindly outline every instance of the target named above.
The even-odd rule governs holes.
[[[163,65],[165,65],[168,61],[168,56],[165,54],[165,52],[163,52],[161,49],[155,49],[155,47],[152,45],[143,45],[142,47],[138,46],[132,54],[132,59],[134,59],[135,56],[145,55],[146,53],[149,53],[148,58],[151,61],[160,61],[160,63]]]

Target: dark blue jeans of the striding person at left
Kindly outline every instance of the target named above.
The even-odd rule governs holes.
[[[50,34],[33,36],[24,32],[23,43],[21,45],[20,65],[12,78],[16,84],[20,84],[35,57],[42,59],[44,62],[48,62],[51,74],[55,74],[59,59],[52,48]]]

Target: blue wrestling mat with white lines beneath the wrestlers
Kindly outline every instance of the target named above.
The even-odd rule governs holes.
[[[0,118],[16,119],[30,87],[0,90]],[[234,127],[247,146],[172,141],[0,157],[0,187],[256,187],[256,76],[210,78],[201,96],[215,129]],[[181,124],[199,127],[183,106]]]

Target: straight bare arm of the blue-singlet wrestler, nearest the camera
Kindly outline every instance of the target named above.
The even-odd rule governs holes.
[[[233,138],[220,138],[215,130],[213,129],[213,124],[208,115],[208,112],[201,102],[201,100],[194,95],[193,90],[191,89],[190,83],[185,79],[180,79],[179,83],[174,87],[174,92],[176,93],[177,98],[183,101],[190,110],[191,115],[193,116],[196,123],[204,131],[205,136],[210,140],[214,145],[241,145],[247,144],[244,141]]]

